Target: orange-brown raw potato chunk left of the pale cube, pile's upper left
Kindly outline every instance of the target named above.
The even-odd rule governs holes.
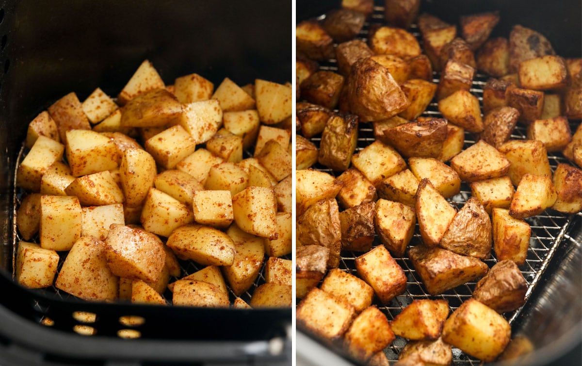
[[[66,132],[72,129],[91,129],[91,124],[83,112],[83,106],[77,98],[77,94],[69,93],[61,99],[55,101],[48,112],[56,122],[59,130],[59,138],[66,143]]]

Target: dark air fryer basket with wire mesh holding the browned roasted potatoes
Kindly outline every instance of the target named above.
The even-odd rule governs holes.
[[[521,24],[541,31],[552,42],[556,53],[563,57],[580,57],[581,33],[580,2],[560,2],[560,6],[550,5],[544,1],[423,1],[421,13],[427,12],[441,17],[441,19],[457,24],[460,15],[499,10],[501,22],[496,26],[493,37],[508,37],[514,24]],[[364,29],[358,35],[367,40],[370,24],[385,23],[384,3],[376,2],[371,19],[364,25]],[[337,8],[338,3],[332,1],[313,4],[306,1],[297,2],[297,21],[318,17],[328,10]],[[409,30],[417,38],[420,34],[413,24]],[[566,37],[564,35],[567,35]],[[320,69],[337,71],[335,60],[320,62]],[[438,83],[438,74],[435,73],[434,82]],[[482,88],[487,82],[487,76],[475,75],[471,93],[482,100]],[[431,103],[424,112],[425,116],[440,117],[436,103]],[[580,121],[573,122],[573,131]],[[526,138],[523,125],[519,125],[512,138]],[[320,137],[311,139],[315,145],[319,145]],[[356,150],[374,141],[372,126],[360,124],[358,144]],[[466,134],[465,148],[474,143],[473,135]],[[549,156],[552,170],[558,163],[567,160],[562,154]],[[316,168],[335,174],[327,167],[317,165]],[[459,195],[453,197],[450,202],[461,207],[471,196],[470,188],[463,183]],[[570,352],[571,362],[580,362],[580,341],[582,338],[582,281],[579,269],[582,267],[582,213],[565,215],[552,210],[546,210],[537,217],[527,219],[532,228],[530,249],[528,250],[526,264],[520,266],[528,283],[526,294],[527,302],[524,307],[516,311],[504,314],[512,325],[512,336],[526,335],[534,344],[535,352],[522,360],[512,364],[544,365],[556,361],[563,354]],[[411,245],[421,242],[418,230],[411,241]],[[376,240],[374,245],[379,244]],[[354,259],[359,253],[342,252],[340,268],[355,273]],[[407,274],[407,289],[403,295],[392,300],[388,305],[377,303],[391,320],[414,299],[428,298],[418,275],[407,258],[396,259]],[[485,261],[490,267],[496,262],[494,258]],[[438,298],[448,300],[452,309],[471,297],[475,282],[456,287],[446,291]],[[389,360],[398,360],[398,354],[406,341],[397,337],[395,342],[386,350]],[[307,364],[349,364],[349,362],[324,348],[322,344],[313,342],[310,336],[297,331],[297,360],[301,366]],[[577,347],[572,351],[573,347]],[[341,353],[340,350],[335,350]],[[556,361],[565,364],[564,360]],[[455,365],[479,365],[480,361],[466,356],[457,349],[453,349],[453,364]]]

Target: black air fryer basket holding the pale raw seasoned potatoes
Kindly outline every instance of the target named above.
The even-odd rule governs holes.
[[[81,100],[95,87],[115,96],[144,59],[168,84],[193,72],[215,86],[226,76],[239,85],[287,82],[291,11],[290,1],[268,0],[0,1],[0,364],[290,362],[289,309],[94,304],[19,287],[12,254],[14,172],[38,113],[70,91]],[[76,311],[97,317],[83,323]],[[140,325],[123,325],[127,315]],[[96,335],[77,335],[79,325]],[[122,329],[139,339],[119,338]]]

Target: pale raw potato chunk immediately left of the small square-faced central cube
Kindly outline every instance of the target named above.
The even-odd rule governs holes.
[[[194,221],[194,214],[185,203],[159,189],[150,188],[145,196],[140,221],[145,230],[169,237],[175,228]]]

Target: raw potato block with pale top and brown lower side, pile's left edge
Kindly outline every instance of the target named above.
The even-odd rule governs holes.
[[[45,136],[39,136],[24,157],[16,173],[16,185],[38,192],[42,175],[63,157],[65,146]]]

